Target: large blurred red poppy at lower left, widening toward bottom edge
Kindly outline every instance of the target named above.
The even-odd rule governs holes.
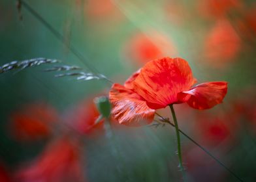
[[[84,181],[78,147],[77,141],[60,138],[47,146],[35,161],[18,170],[14,179],[20,182]]]

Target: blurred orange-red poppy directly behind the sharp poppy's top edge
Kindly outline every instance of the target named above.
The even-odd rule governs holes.
[[[173,56],[176,48],[167,36],[157,32],[137,33],[129,39],[125,47],[125,55],[140,64],[159,57]]]

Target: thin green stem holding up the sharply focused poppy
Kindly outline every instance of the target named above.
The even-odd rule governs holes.
[[[170,110],[172,111],[172,118],[174,121],[175,130],[176,130],[176,137],[177,137],[177,143],[178,143],[178,158],[179,158],[179,162],[180,162],[179,167],[180,167],[180,170],[182,171],[182,175],[185,180],[185,173],[184,173],[185,169],[182,164],[182,148],[181,148],[181,144],[180,144],[180,131],[179,131],[178,122],[177,122],[177,118],[176,118],[176,114],[175,114],[173,105],[171,104],[171,105],[169,105],[169,107],[170,107]]]

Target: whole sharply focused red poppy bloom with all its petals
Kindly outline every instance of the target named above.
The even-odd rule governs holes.
[[[202,83],[191,88],[196,79],[189,64],[180,58],[152,60],[130,79],[128,88],[114,84],[109,94],[112,115],[120,123],[139,123],[143,119],[150,123],[155,109],[174,103],[187,102],[195,109],[210,109],[221,103],[227,93],[227,82]]]

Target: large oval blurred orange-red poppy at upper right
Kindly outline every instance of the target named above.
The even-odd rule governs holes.
[[[241,49],[241,40],[231,23],[221,19],[207,34],[204,48],[207,63],[222,67],[236,58]]]

